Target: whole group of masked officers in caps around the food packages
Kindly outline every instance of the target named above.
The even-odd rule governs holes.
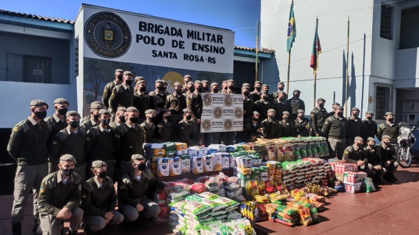
[[[75,234],[82,219],[85,231],[91,233],[103,230],[106,224],[121,223],[124,217],[125,221],[136,221],[159,214],[159,206],[150,199],[152,191],[164,185],[147,168],[143,157],[146,142],[208,146],[257,138],[323,136],[332,157],[358,164],[379,181],[382,176],[387,181],[397,180],[393,174],[397,168],[394,144],[399,128],[391,112],[378,126],[370,111],[361,120],[360,110],[354,107],[345,118],[340,104],[335,102],[327,112],[325,100],[319,98],[308,119],[300,91],[294,90],[293,97],[287,99],[283,82],[269,94],[269,87],[256,81],[253,91],[247,83],[241,88],[242,132],[200,133],[203,93],[234,94],[234,80],[226,80],[220,89],[216,82],[192,82],[186,75],[183,85],[174,82],[171,94],[165,91],[164,80],[156,80],[154,91],[147,92],[146,86],[144,78],[117,69],[114,80],[105,86],[103,102],[92,102],[89,115],[83,118],[69,111],[70,103],[64,98],[54,100],[50,117],[46,117],[46,102],[30,102],[30,116],[12,128],[8,144],[10,156],[18,163],[13,234],[21,234],[23,208],[31,189],[34,232],[41,227],[43,234],[57,234],[60,221],[68,219],[70,233]],[[375,136],[381,141],[378,146]],[[114,211],[116,195],[110,190],[114,181],[119,181],[121,213]]]

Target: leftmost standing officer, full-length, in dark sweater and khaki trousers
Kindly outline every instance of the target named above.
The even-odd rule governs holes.
[[[34,232],[39,225],[37,202],[41,181],[48,175],[48,138],[51,132],[51,126],[43,120],[47,110],[48,104],[45,101],[32,100],[30,116],[16,124],[10,135],[8,152],[17,161],[11,216],[12,234],[21,234],[23,210],[31,189],[34,194]]]

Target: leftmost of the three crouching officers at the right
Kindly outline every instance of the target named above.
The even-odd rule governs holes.
[[[363,146],[364,139],[359,136],[355,137],[354,144],[347,146],[343,151],[343,161],[346,161],[349,164],[356,164],[358,166],[358,171],[363,171],[369,175],[373,167],[368,163],[368,158]]]

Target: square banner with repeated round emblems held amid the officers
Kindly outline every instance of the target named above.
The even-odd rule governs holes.
[[[243,96],[203,94],[201,133],[243,131]]]

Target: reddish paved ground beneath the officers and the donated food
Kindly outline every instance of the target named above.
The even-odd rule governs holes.
[[[265,221],[258,223],[272,234],[418,234],[419,227],[419,162],[396,172],[398,182],[385,185],[374,193],[340,193],[327,200],[320,223],[309,227],[287,227]],[[10,208],[12,195],[0,197],[0,234],[11,234]],[[28,201],[23,221],[23,234],[30,234],[32,200]],[[416,232],[415,232],[416,231]],[[131,231],[112,227],[107,234],[170,234],[165,225]],[[79,234],[82,234],[79,232]]]

